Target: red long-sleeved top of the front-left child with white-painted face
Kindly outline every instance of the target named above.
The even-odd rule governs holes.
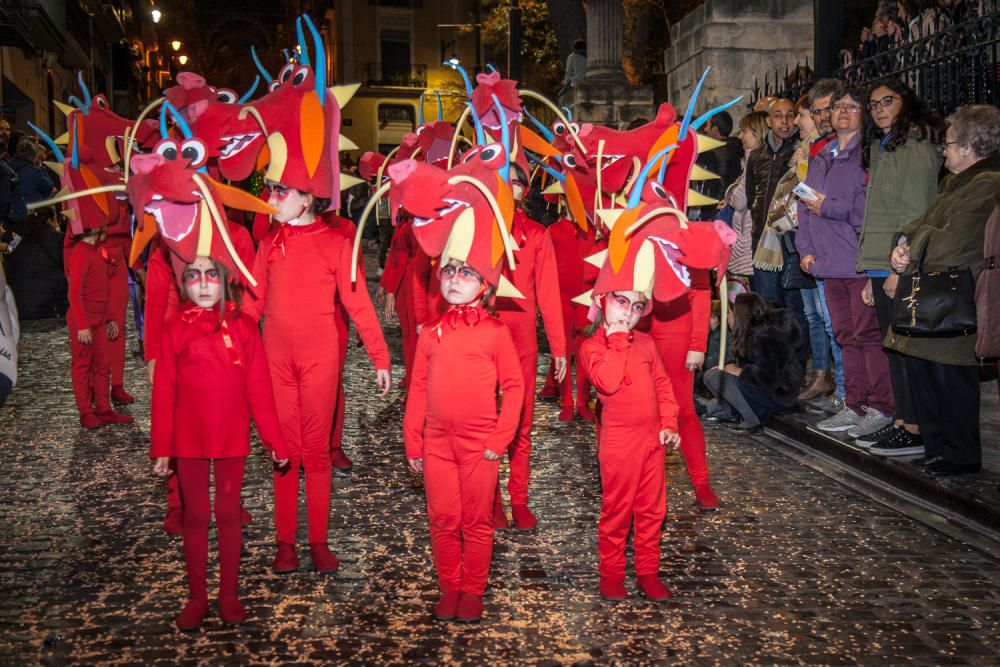
[[[217,309],[188,305],[163,330],[150,456],[247,456],[251,415],[264,446],[288,458],[256,324],[233,310],[220,326]]]

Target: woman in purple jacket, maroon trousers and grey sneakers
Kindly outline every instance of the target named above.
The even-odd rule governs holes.
[[[867,277],[856,270],[865,214],[867,174],[861,158],[868,98],[859,88],[845,86],[831,102],[837,138],[809,164],[805,183],[816,194],[800,197],[795,246],[802,270],[824,279],[833,334],[844,359],[846,405],[816,426],[851,436],[852,430],[871,432],[890,423],[893,397],[878,318],[862,301]]]

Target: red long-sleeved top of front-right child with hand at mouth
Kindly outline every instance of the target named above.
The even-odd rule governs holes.
[[[603,404],[601,428],[652,421],[658,430],[677,430],[673,387],[650,336],[634,330],[608,336],[601,327],[580,346],[580,363]]]

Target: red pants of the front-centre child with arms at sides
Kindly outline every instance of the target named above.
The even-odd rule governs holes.
[[[493,558],[493,496],[499,461],[483,444],[449,433],[425,433],[424,487],[431,550],[442,592],[482,595]],[[449,446],[451,445],[451,446]]]

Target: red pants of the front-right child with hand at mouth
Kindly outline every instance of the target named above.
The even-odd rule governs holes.
[[[660,536],[667,514],[663,446],[655,426],[608,431],[601,431],[597,451],[602,489],[597,527],[601,576],[625,577],[625,543],[633,519],[636,576],[658,574]]]

